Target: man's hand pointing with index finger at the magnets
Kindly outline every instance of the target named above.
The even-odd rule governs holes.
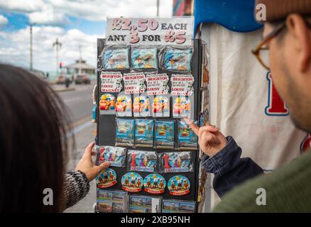
[[[207,156],[216,155],[227,145],[227,138],[224,137],[218,128],[212,126],[210,123],[199,127],[189,118],[184,118],[184,120],[197,135],[199,146]]]

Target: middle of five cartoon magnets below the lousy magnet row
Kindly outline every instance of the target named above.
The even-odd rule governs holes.
[[[150,98],[144,94],[134,96],[133,116],[150,116]]]

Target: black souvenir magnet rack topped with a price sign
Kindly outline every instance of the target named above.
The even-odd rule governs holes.
[[[97,40],[97,212],[190,213],[200,204],[197,135],[207,62],[193,18],[108,18]]]

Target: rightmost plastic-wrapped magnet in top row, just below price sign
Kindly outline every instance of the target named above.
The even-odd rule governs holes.
[[[163,65],[165,70],[191,71],[192,48],[165,48]]]

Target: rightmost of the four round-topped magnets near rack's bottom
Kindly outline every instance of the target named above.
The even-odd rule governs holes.
[[[184,196],[190,192],[190,181],[182,175],[172,177],[168,181],[168,190],[173,196]]]

